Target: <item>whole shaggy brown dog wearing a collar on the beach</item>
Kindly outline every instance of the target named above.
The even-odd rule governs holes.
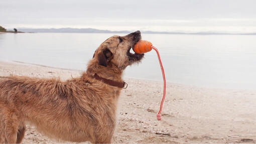
[[[110,143],[122,71],[143,54],[130,49],[141,32],[113,36],[95,51],[87,71],[66,81],[0,77],[0,143],[20,143],[29,121],[50,137]]]

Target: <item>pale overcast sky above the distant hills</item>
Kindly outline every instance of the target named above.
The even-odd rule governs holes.
[[[0,26],[256,33],[254,0],[2,0]]]

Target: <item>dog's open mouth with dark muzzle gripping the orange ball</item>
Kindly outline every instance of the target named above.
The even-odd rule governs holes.
[[[140,61],[144,57],[144,54],[131,53],[130,51],[131,51],[132,47],[134,47],[134,45],[137,44],[141,40],[141,38],[142,38],[141,32],[137,31],[130,35],[133,35],[133,44],[127,50],[127,56],[129,58],[129,61]]]

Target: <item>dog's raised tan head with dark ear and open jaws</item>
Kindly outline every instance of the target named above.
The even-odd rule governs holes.
[[[133,63],[140,62],[144,54],[130,53],[131,48],[141,40],[141,32],[126,36],[113,36],[105,40],[93,54],[98,64],[107,67],[109,63],[123,70]]]

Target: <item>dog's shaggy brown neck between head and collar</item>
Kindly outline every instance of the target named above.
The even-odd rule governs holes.
[[[99,77],[114,80],[122,81],[122,70],[120,70],[113,63],[108,63],[107,67],[99,65],[95,61],[90,61],[86,70],[86,74],[90,77],[94,77],[97,74]]]

